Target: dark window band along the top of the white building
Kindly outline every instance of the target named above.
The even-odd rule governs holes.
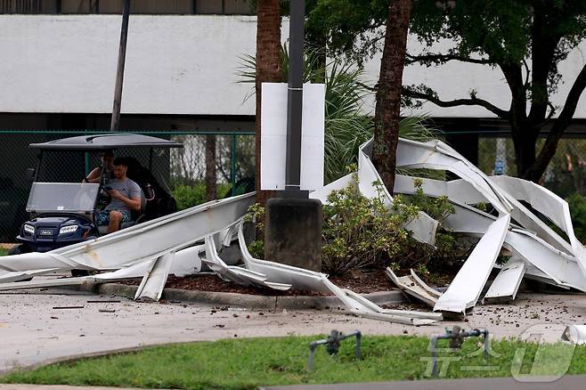
[[[124,0],[0,0],[2,13],[122,13]],[[131,0],[133,14],[250,15],[250,0]]]

